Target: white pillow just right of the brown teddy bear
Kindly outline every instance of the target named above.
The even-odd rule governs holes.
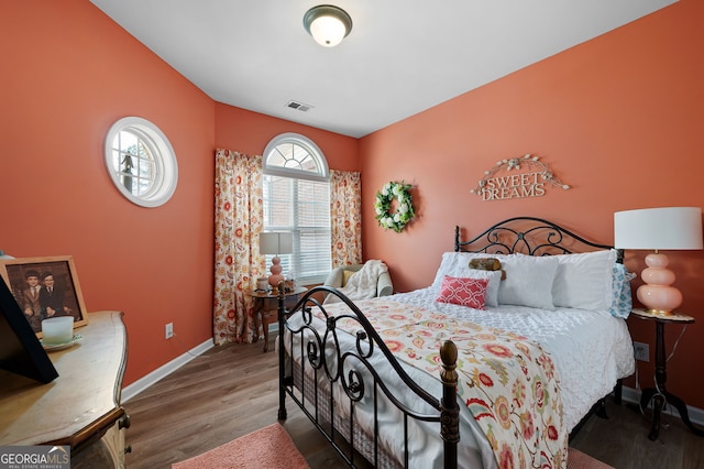
[[[558,271],[554,255],[514,254],[502,259],[506,279],[498,287],[499,305],[554,309],[552,283]]]

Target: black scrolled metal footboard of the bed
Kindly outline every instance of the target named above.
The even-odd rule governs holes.
[[[330,316],[326,312],[324,306],[315,298],[314,295],[318,292],[327,292],[331,295],[337,295],[350,309],[349,314]],[[312,308],[318,308],[326,317],[326,331],[321,337],[318,331],[311,327],[312,323]],[[286,319],[295,312],[301,312],[305,325],[298,329],[293,329],[287,324]],[[359,330],[356,331],[356,346],[354,351],[342,352],[339,348],[339,337],[337,324],[342,319],[352,319],[359,324]],[[314,413],[311,413],[304,404],[304,400],[307,396],[306,390],[301,390],[300,393],[295,392],[295,383],[306,384],[305,366],[299,370],[294,368],[293,360],[287,363],[285,347],[282,342],[278,343],[278,378],[279,378],[279,401],[278,401],[278,419],[285,421],[287,418],[286,412],[286,395],[288,395],[310,418],[314,425],[320,430],[326,439],[336,448],[336,450],[342,456],[342,458],[350,465],[355,466],[355,457],[359,455],[359,450],[355,447],[355,441],[346,441],[349,448],[345,448],[344,438],[336,427],[334,404],[332,402],[332,392],[319,392],[317,389],[318,379],[321,373],[324,373],[326,379],[331,383],[339,383],[346,396],[350,400],[350,407],[353,408],[355,403],[365,397],[366,393],[372,394],[372,405],[374,407],[374,435],[373,435],[373,463],[374,467],[380,467],[382,455],[382,448],[378,446],[378,430],[380,424],[376,421],[378,406],[381,404],[380,392],[404,415],[404,441],[405,441],[405,461],[403,467],[408,467],[408,419],[414,418],[422,422],[435,422],[440,425],[440,435],[444,440],[444,468],[458,467],[458,443],[460,441],[460,407],[457,402],[457,385],[458,373],[455,371],[458,349],[455,345],[447,340],[440,348],[440,358],[442,361],[442,371],[440,372],[440,381],[442,382],[442,399],[438,400],[436,396],[429,394],[424,388],[418,385],[402,368],[400,363],[393,356],[386,343],[378,336],[374,327],[370,324],[364,314],[352,303],[346,296],[338,292],[336,288],[328,286],[318,286],[309,290],[299,303],[292,309],[285,309],[285,298],[278,297],[278,327],[279,338],[284,337],[280,331],[287,330],[288,347],[294,348],[294,335],[302,335],[309,332],[312,339],[309,339],[305,343],[300,340],[299,353],[301,357],[307,358],[307,364],[314,370],[312,383],[316,386],[311,391],[314,402]],[[346,334],[346,332],[342,332]],[[327,360],[324,353],[324,347],[327,343],[333,343],[336,346],[333,352],[333,362]],[[437,414],[421,414],[415,412],[402,403],[388,389],[386,383],[381,380],[374,367],[370,363],[369,359],[372,353],[378,349],[378,352],[383,353],[388,363],[393,367],[396,375],[402,380],[408,389],[422,401],[432,407]],[[363,369],[372,377],[371,385],[365,383],[362,373],[359,369]],[[299,373],[298,377],[295,373]],[[367,390],[369,385],[369,390]],[[330,400],[328,408],[332,413],[328,417],[323,417],[318,413],[318,400]],[[323,404],[323,403],[321,403]],[[350,412],[348,416],[350,418],[350,428],[354,428],[354,412]],[[350,435],[353,435],[350,433]]]

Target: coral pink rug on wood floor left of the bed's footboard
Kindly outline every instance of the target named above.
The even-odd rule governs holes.
[[[175,462],[173,469],[310,469],[278,423],[241,436],[208,452]]]

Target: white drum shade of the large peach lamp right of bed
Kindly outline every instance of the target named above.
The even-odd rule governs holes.
[[[702,249],[702,209],[663,207],[614,214],[614,246],[618,249]]]

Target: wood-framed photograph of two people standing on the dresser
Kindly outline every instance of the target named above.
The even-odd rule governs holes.
[[[0,260],[0,275],[38,338],[42,320],[73,316],[74,328],[88,324],[88,314],[70,255]]]

